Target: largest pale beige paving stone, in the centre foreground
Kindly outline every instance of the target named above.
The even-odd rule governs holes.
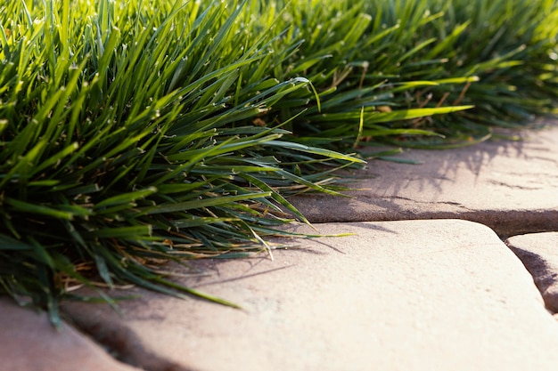
[[[141,299],[121,303],[123,319],[105,305],[63,310],[90,327],[111,324],[189,369],[556,368],[558,323],[520,260],[487,227],[439,220],[316,229],[355,235],[278,240],[291,248],[275,250],[273,261],[193,262],[205,274],[180,278],[242,311],[139,289]]]

